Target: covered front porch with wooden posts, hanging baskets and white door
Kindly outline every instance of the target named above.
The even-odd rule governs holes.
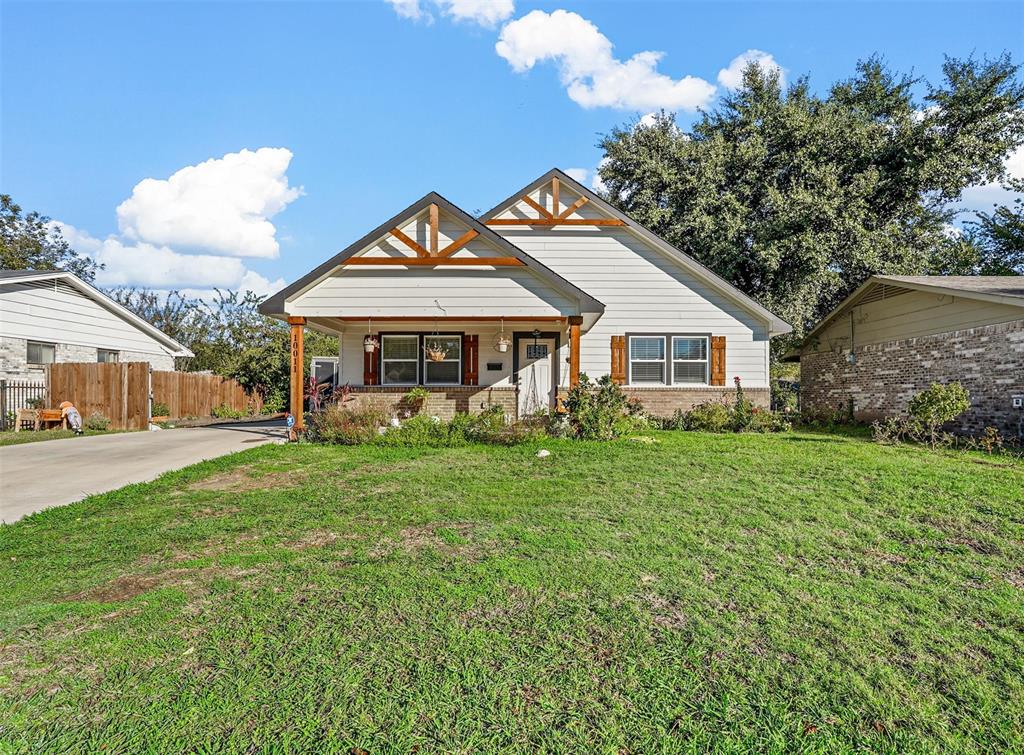
[[[582,316],[290,317],[291,406],[303,428],[304,332],[338,338],[336,354],[311,354],[318,383],[344,387],[353,408],[406,410],[413,388],[425,411],[450,418],[500,406],[517,418],[558,406],[580,379]]]

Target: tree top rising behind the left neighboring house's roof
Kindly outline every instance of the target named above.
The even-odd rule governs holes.
[[[72,249],[50,218],[23,214],[10,195],[0,194],[0,269],[62,269],[92,281],[102,265]]]

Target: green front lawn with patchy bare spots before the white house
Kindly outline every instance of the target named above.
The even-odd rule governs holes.
[[[1008,752],[1024,463],[264,446],[0,529],[0,752]]]

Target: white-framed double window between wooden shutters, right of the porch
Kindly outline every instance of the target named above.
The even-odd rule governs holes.
[[[707,385],[708,342],[708,336],[630,336],[630,385]]]

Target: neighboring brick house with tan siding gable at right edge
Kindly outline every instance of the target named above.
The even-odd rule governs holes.
[[[1024,276],[874,276],[804,339],[801,406],[872,420],[906,411],[933,382],[958,381],[961,432],[1024,426]]]

